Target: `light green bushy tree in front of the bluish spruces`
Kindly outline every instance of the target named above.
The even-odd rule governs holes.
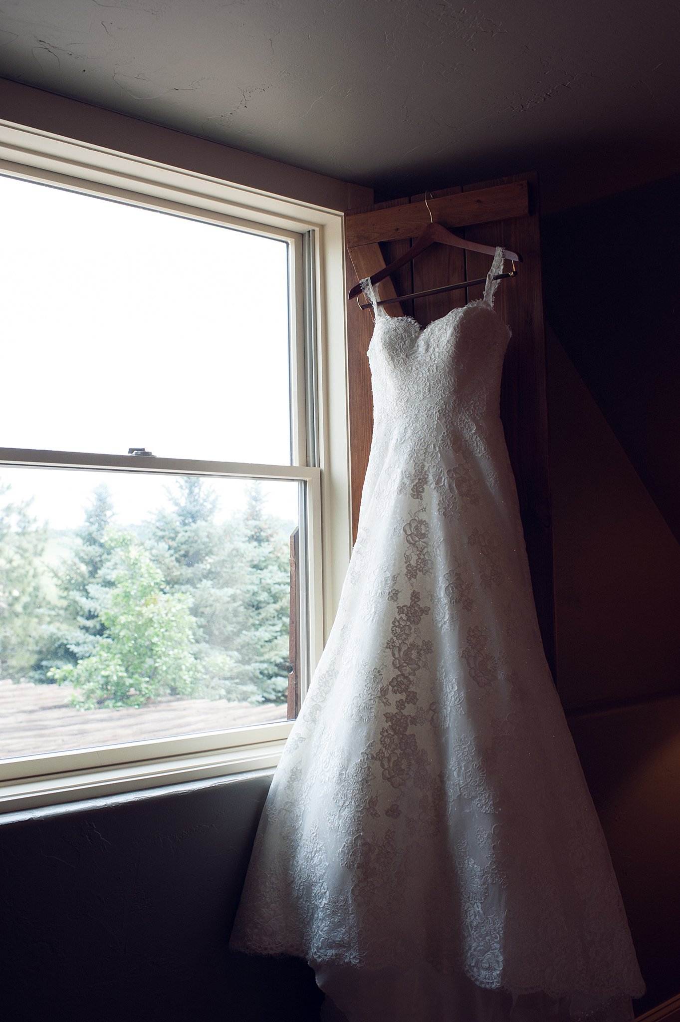
[[[188,597],[162,592],[162,574],[134,533],[109,526],[103,554],[97,580],[88,585],[96,608],[90,621],[99,632],[92,651],[48,677],[71,684],[75,704],[85,709],[194,694],[201,670]]]

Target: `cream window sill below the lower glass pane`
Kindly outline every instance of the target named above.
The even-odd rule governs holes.
[[[30,779],[17,778],[0,784],[0,812],[16,812],[102,795],[158,788],[183,781],[272,769],[279,762],[285,744],[286,740],[279,738],[218,751],[140,760],[99,770],[64,771]]]

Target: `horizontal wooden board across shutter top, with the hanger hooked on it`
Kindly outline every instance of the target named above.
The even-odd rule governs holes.
[[[432,217],[444,227],[469,227],[491,221],[526,217],[529,213],[529,191],[526,181],[484,188],[477,192],[460,192],[442,198],[428,199]],[[415,238],[430,223],[425,202],[347,214],[345,232],[347,247],[370,245],[378,241]]]

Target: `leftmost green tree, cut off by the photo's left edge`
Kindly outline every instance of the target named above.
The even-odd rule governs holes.
[[[47,532],[31,501],[11,502],[0,483],[0,678],[31,678],[45,624],[41,557]]]

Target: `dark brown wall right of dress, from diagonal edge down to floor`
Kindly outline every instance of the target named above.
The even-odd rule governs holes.
[[[548,333],[557,688],[653,1007],[680,990],[680,548]]]

